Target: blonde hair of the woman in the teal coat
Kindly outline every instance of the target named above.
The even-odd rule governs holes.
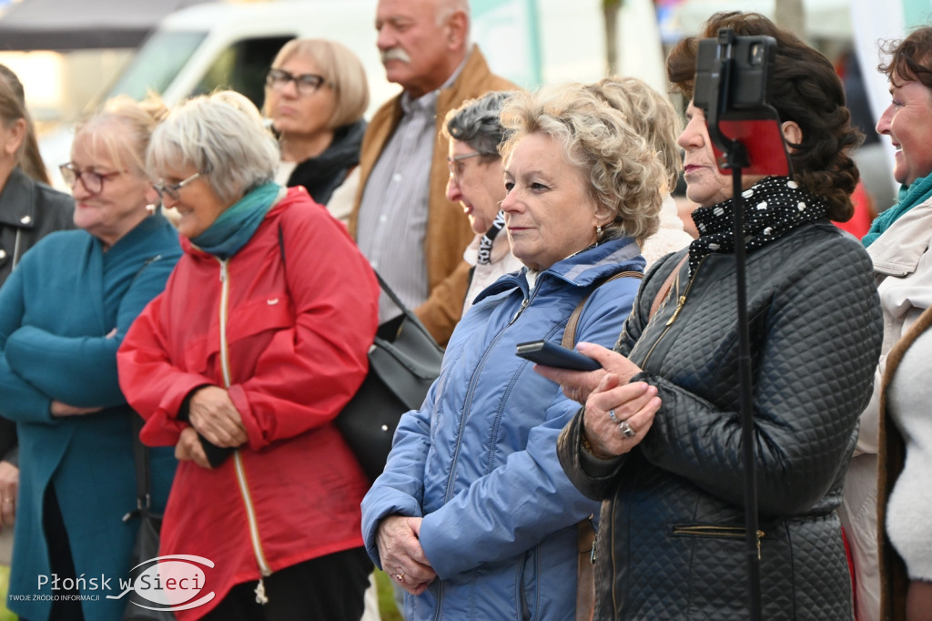
[[[145,151],[158,123],[168,113],[168,107],[153,93],[143,102],[117,95],[99,111],[81,118],[75,126],[75,136],[87,133],[92,144],[103,145],[118,167],[145,177]]]

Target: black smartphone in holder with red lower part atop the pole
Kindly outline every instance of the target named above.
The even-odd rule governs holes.
[[[699,41],[692,104],[706,115],[722,172],[789,174],[780,117],[768,104],[775,60],[772,36],[738,36],[722,28],[718,39]]]

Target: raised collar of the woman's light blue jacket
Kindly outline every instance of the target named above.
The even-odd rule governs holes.
[[[537,286],[540,287],[548,279],[558,279],[573,286],[585,287],[621,271],[643,272],[645,265],[644,257],[640,254],[640,247],[634,239],[624,237],[600,243],[562,261],[557,261],[538,275]],[[514,287],[520,288],[527,294],[528,281],[525,276],[527,271],[528,268],[521,268],[515,274],[500,278],[487,286],[475,298],[475,301],[478,302],[484,297],[493,296],[502,291],[514,289]]]

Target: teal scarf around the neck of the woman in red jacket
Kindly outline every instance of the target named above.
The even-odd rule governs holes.
[[[204,252],[227,259],[240,252],[240,248],[253,238],[256,228],[275,204],[281,186],[258,186],[240,200],[226,208],[213,224],[191,242]]]

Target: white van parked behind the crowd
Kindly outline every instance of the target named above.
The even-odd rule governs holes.
[[[471,36],[496,73],[514,83],[594,81],[605,75],[600,0],[472,0]],[[215,2],[182,8],[162,21],[98,103],[120,93],[135,99],[148,90],[166,104],[217,88],[238,90],[261,105],[266,72],[284,43],[295,37],[329,38],[353,50],[369,81],[371,114],[399,91],[385,79],[378,58],[377,0],[280,0]],[[651,0],[628,0],[619,44],[628,75],[662,75],[662,58]],[[624,64],[624,63],[623,63]],[[662,77],[660,78],[663,79]],[[367,115],[368,116],[368,115]],[[53,182],[70,157],[73,130],[42,136],[39,145]]]

